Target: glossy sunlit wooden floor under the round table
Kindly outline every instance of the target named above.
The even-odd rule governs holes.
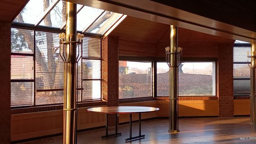
[[[168,119],[142,121],[144,139],[131,144],[256,144],[256,124],[249,118],[180,118],[180,132],[168,132]],[[105,129],[79,132],[78,144],[125,144],[129,124],[119,125],[121,136],[101,139]],[[114,129],[111,127],[110,131]],[[133,136],[138,134],[138,123],[133,123]],[[62,136],[39,139],[20,144],[62,144]]]

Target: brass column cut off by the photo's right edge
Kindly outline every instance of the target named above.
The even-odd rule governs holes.
[[[256,44],[251,44],[250,122],[256,124]]]

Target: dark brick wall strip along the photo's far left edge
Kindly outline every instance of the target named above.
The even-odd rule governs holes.
[[[11,137],[11,23],[0,21],[0,143],[10,144]]]

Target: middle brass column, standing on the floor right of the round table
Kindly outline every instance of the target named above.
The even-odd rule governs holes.
[[[178,121],[178,28],[171,25],[170,67],[169,67],[169,132],[179,132]]]

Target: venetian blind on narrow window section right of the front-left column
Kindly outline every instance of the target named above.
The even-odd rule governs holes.
[[[81,101],[101,98],[101,39],[84,37],[81,59]]]

